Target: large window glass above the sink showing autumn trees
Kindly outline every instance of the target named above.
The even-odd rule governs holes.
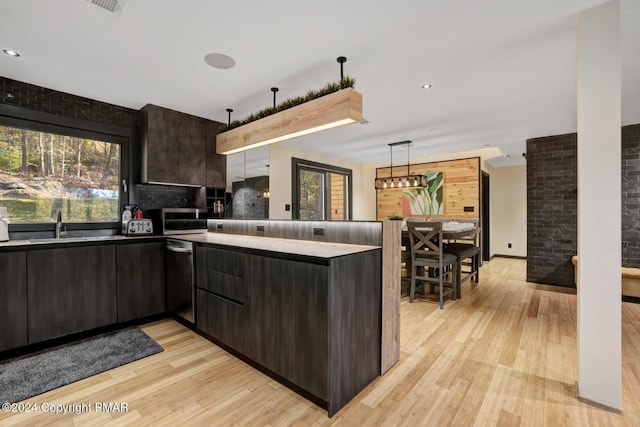
[[[31,126],[30,126],[31,125]],[[53,131],[52,131],[53,130]],[[117,222],[122,141],[98,132],[0,124],[0,206],[16,223]]]

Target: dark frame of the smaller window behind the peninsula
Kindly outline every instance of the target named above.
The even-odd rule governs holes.
[[[318,221],[318,220],[302,220],[300,219],[300,171],[302,169],[314,170],[324,172],[325,177],[327,173],[338,173],[347,177],[347,197],[345,208],[347,209],[347,218],[341,221],[353,220],[353,171],[351,169],[343,168],[340,166],[329,165],[326,163],[314,162],[311,160],[300,159],[297,157],[291,158],[291,217],[300,221]],[[326,189],[326,179],[325,189]],[[331,219],[331,215],[327,215],[327,206],[330,205],[329,198],[331,197],[329,192],[324,192],[324,206],[323,212],[324,219],[320,221],[336,221]]]

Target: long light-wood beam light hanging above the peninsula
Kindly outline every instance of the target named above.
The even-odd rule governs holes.
[[[342,66],[341,58],[338,62]],[[216,136],[216,152],[239,153],[360,121],[362,94],[345,88],[220,133]]]

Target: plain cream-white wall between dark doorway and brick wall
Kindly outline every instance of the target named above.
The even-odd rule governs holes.
[[[527,256],[526,166],[494,168],[489,173],[490,254]],[[511,243],[511,248],[508,244]]]

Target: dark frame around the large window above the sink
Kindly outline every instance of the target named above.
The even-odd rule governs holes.
[[[129,128],[106,125],[88,120],[59,116],[51,113],[33,111],[22,107],[0,104],[0,125],[38,132],[49,132],[78,138],[96,139],[120,145],[120,180],[125,179],[131,187],[130,157],[134,131]],[[123,185],[119,185],[120,208],[129,204],[130,192],[124,192]],[[64,218],[63,218],[64,220]],[[120,221],[105,222],[66,222],[67,230],[103,230],[120,229]],[[55,223],[24,222],[10,223],[9,232],[40,232],[54,231]]]

